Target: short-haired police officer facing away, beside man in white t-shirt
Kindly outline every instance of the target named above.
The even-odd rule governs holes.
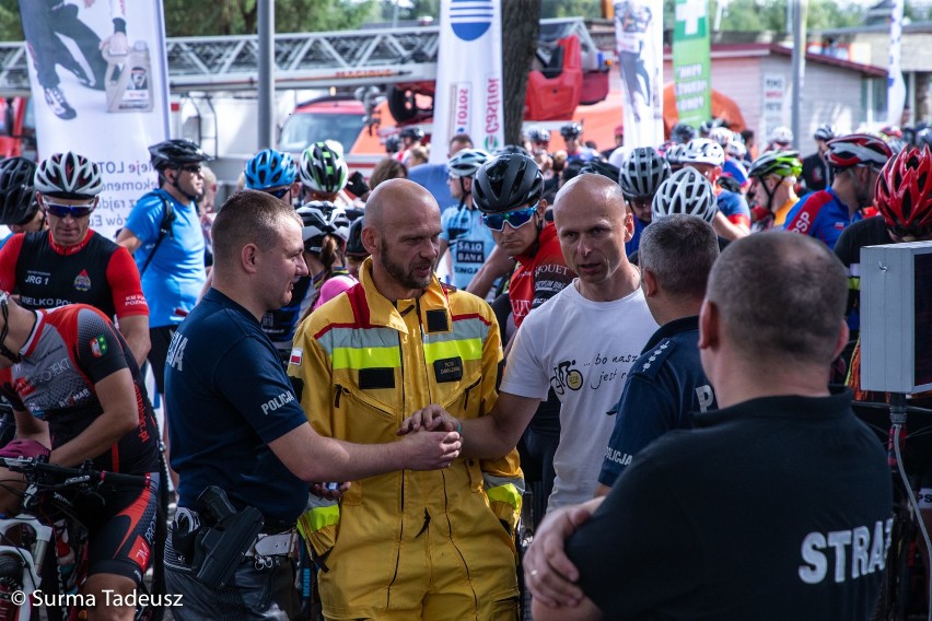
[[[625,383],[596,495],[607,494],[648,444],[671,430],[692,427],[691,412],[715,409],[697,343],[699,309],[718,256],[718,236],[701,218],[667,215],[644,229],[641,288],[661,327]]]

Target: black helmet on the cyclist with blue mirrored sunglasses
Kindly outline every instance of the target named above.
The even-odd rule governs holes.
[[[502,213],[536,204],[544,195],[544,175],[533,157],[517,153],[489,160],[473,183],[473,202],[484,213]]]

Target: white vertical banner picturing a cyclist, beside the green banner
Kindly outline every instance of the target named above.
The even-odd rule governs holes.
[[[663,142],[663,0],[615,2],[625,149]]]

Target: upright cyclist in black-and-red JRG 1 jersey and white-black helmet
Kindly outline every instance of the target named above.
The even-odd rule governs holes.
[[[137,364],[149,352],[149,306],[126,248],[91,230],[104,188],[101,168],[77,153],[55,153],[35,174],[48,232],[13,235],[0,249],[0,289],[26,308],[89,304],[119,329]]]

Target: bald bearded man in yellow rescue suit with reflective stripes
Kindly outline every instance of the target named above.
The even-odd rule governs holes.
[[[322,435],[391,442],[431,403],[463,420],[494,406],[499,327],[485,301],[438,281],[440,232],[436,201],[412,181],[366,201],[360,282],[301,325],[288,371]],[[315,497],[299,527],[323,562],[324,616],[516,620],[523,488],[511,450],[357,480],[339,505]]]

